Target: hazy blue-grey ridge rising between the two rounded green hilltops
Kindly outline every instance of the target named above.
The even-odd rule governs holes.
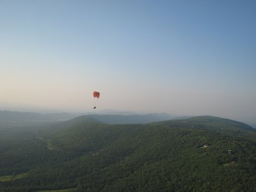
[[[149,113],[145,115],[88,115],[90,118],[105,124],[147,124],[172,120],[173,116],[166,113]]]

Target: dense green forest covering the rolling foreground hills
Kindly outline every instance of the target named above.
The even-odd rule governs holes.
[[[256,131],[198,116],[0,127],[0,191],[256,191]]]

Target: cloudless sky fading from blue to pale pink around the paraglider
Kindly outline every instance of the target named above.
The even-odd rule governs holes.
[[[256,122],[256,1],[0,0],[0,110]]]

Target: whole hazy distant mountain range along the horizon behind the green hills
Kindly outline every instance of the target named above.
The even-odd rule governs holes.
[[[111,115],[109,115],[109,113]],[[115,112],[116,113],[116,112]],[[166,113],[152,113],[146,115],[134,115],[132,113],[115,114],[113,111],[104,111],[101,115],[89,114],[90,118],[105,124],[147,124],[163,120],[172,120],[173,116]],[[129,115],[128,115],[129,114]],[[71,113],[28,113],[17,111],[0,111],[0,125],[28,125],[38,122],[58,122],[69,120],[79,115]],[[185,117],[184,117],[185,118]]]

